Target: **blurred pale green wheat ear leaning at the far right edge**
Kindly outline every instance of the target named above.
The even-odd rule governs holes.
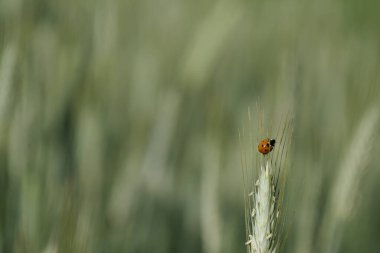
[[[359,195],[363,172],[369,164],[379,122],[379,109],[369,109],[359,121],[346,156],[337,170],[322,218],[318,252],[338,252],[344,223],[350,217]]]

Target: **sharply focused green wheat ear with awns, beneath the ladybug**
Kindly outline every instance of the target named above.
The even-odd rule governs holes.
[[[280,252],[285,242],[283,198],[287,156],[293,133],[293,117],[286,116],[277,131],[277,143],[269,155],[256,150],[252,134],[240,133],[241,144],[250,140],[249,152],[242,146],[246,245],[249,253]],[[262,136],[263,137],[263,136]],[[261,138],[262,138],[261,137]],[[259,140],[257,136],[257,140]],[[254,162],[255,161],[255,162]]]

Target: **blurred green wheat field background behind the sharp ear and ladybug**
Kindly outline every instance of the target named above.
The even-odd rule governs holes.
[[[257,101],[295,114],[285,251],[315,252],[380,99],[379,8],[1,0],[0,252],[245,252],[238,129]],[[378,141],[339,252],[379,252]]]

